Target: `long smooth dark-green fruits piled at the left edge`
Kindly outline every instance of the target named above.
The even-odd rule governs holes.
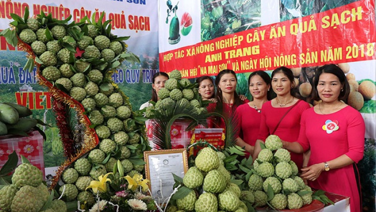
[[[21,135],[33,129],[38,120],[27,118],[30,115],[32,111],[22,105],[11,102],[0,103],[0,136]]]

